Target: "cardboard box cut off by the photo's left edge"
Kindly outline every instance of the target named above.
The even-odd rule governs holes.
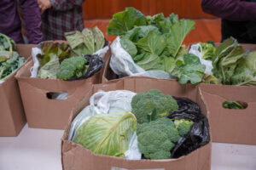
[[[34,46],[32,44],[17,44],[17,51],[28,59],[31,55],[31,48]],[[0,84],[0,136],[17,136],[26,123],[15,73]]]

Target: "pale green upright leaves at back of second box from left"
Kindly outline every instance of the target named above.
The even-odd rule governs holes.
[[[82,32],[65,32],[65,37],[73,52],[79,56],[94,54],[105,44],[104,35],[97,26],[92,29],[84,28]]]

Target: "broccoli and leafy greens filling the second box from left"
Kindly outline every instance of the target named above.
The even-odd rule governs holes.
[[[94,54],[104,47],[105,39],[97,27],[84,28],[82,32],[65,33],[67,43],[44,42],[41,44],[42,54],[38,54],[39,78],[59,78],[70,80],[84,76],[88,70],[84,55]]]

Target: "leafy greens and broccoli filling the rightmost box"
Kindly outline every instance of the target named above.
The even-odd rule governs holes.
[[[204,82],[225,85],[256,86],[256,51],[246,53],[235,38],[230,37],[218,48],[201,43],[203,58],[212,60],[211,76]]]

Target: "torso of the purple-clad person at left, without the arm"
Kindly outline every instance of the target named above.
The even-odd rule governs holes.
[[[15,42],[23,42],[20,17],[16,5],[15,0],[0,1],[0,32],[13,38]]]

